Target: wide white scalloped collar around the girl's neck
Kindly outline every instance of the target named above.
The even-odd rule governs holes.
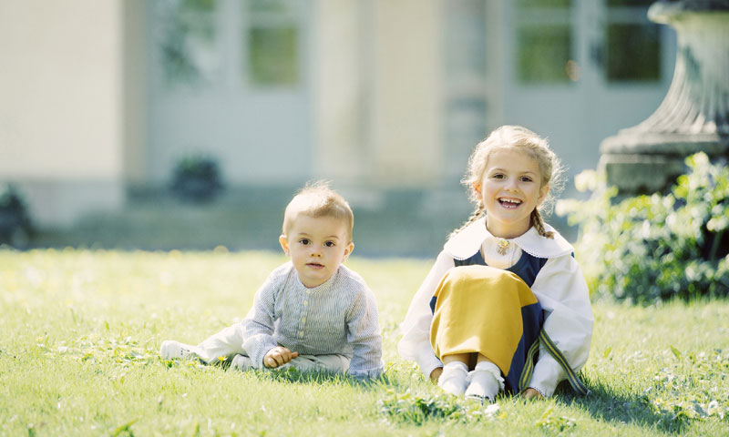
[[[529,255],[537,258],[549,259],[574,252],[572,245],[554,228],[545,223],[544,229],[548,232],[554,232],[554,238],[548,239],[542,237],[537,232],[537,229],[531,227],[516,239],[507,240],[519,246],[519,248],[529,253]],[[486,218],[482,217],[448,239],[443,246],[443,250],[455,259],[467,259],[476,254],[481,249],[481,244],[488,238],[496,239],[486,229]]]

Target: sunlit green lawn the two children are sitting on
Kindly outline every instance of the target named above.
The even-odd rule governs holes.
[[[380,381],[162,361],[245,315],[267,252],[0,250],[0,435],[726,435],[729,304],[594,305],[583,376],[542,401],[441,395],[395,351],[429,261],[351,259],[375,291]]]

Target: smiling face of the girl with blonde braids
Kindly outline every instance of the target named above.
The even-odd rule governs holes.
[[[486,208],[486,228],[502,239],[529,230],[531,211],[549,192],[541,186],[539,163],[517,148],[500,148],[488,156],[483,177],[473,184]]]

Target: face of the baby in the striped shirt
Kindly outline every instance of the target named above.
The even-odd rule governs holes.
[[[354,249],[344,220],[326,216],[299,214],[279,241],[299,279],[310,289],[331,278]]]

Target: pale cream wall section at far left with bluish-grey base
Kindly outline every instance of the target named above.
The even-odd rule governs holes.
[[[123,0],[0,0],[0,180],[41,224],[123,200]]]

